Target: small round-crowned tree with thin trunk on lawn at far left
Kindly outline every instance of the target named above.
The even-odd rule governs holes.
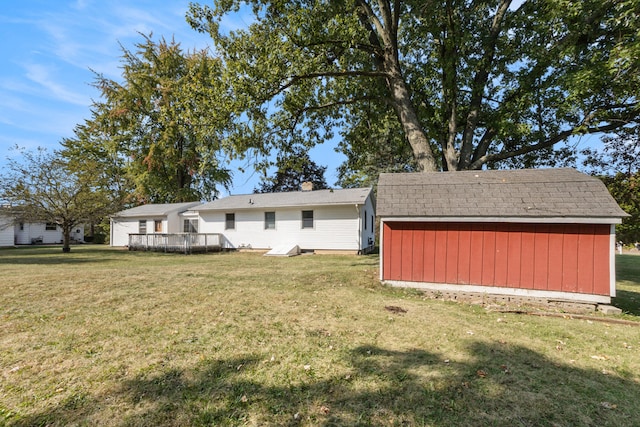
[[[73,228],[112,213],[112,199],[94,186],[92,177],[74,173],[57,153],[45,149],[21,153],[21,158],[9,160],[0,176],[0,200],[8,202],[22,221],[60,226],[62,250],[69,252]]]

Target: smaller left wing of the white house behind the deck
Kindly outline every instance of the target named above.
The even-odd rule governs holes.
[[[167,234],[184,232],[181,213],[200,202],[142,205],[120,211],[111,217],[111,246],[127,246],[129,234]],[[194,232],[197,232],[195,230]]]

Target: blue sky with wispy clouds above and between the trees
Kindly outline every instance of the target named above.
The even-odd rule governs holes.
[[[59,148],[90,117],[99,93],[91,70],[121,80],[121,48],[142,34],[174,37],[183,49],[203,49],[210,39],[185,21],[189,0],[6,0],[0,6],[0,168],[15,157],[10,148]],[[244,27],[242,18],[225,22]],[[343,157],[318,147],[312,159],[327,166],[329,185]],[[235,169],[238,165],[231,164]],[[231,192],[250,193],[257,174],[234,172]]]

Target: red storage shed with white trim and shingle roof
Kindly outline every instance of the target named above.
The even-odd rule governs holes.
[[[611,302],[615,224],[628,216],[574,169],[381,174],[386,283],[557,301]]]

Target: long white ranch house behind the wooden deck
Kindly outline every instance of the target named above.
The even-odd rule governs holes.
[[[171,215],[159,215],[170,207]],[[158,221],[166,227],[156,227]],[[371,188],[233,195],[193,206],[139,206],[114,215],[111,224],[112,246],[129,245],[130,235],[190,233],[218,236],[223,249],[274,255],[364,253],[374,245],[375,201]]]

